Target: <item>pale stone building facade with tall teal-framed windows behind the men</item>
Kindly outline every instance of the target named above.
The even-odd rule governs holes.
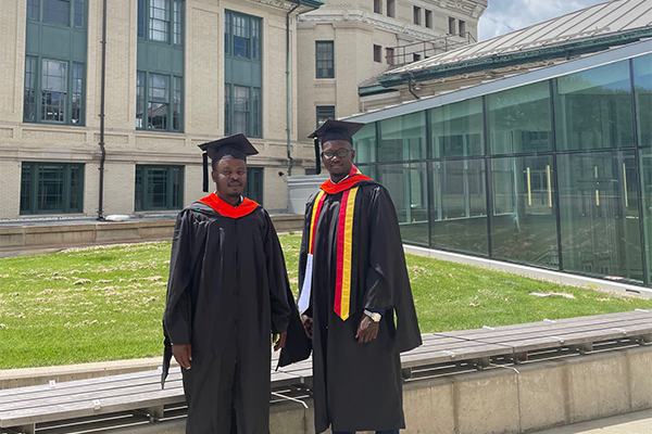
[[[453,16],[475,35],[486,7],[323,3],[106,1],[103,68],[101,0],[0,0],[0,219],[174,213],[203,194],[197,145],[235,132],[260,151],[249,195],[287,209],[286,177],[314,166],[316,107],[358,113],[358,85],[388,67],[374,46],[430,40]],[[315,78],[315,41],[333,42],[333,78]]]

